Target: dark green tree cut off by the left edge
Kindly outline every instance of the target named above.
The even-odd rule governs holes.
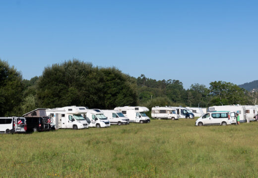
[[[0,116],[7,116],[22,100],[22,76],[0,59]]]

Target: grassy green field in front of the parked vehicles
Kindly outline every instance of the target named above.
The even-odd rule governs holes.
[[[258,178],[258,122],[151,120],[0,135],[0,178]]]

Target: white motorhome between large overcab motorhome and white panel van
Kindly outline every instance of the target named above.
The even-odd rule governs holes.
[[[110,127],[110,122],[100,109],[87,109],[86,121],[89,127]]]

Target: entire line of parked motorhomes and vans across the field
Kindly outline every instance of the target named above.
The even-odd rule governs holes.
[[[38,108],[22,117],[0,118],[0,133],[24,133],[29,131],[49,131],[53,129],[103,128],[110,125],[149,123],[145,114],[148,108],[142,106],[116,107],[114,110],[88,109],[67,106],[62,108]],[[225,105],[204,108],[192,107],[153,107],[151,117],[156,119],[179,119],[199,117],[195,125],[229,125],[236,123],[235,114],[240,122],[258,120],[258,105]]]

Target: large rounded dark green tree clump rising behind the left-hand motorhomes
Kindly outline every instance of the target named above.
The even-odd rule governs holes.
[[[116,68],[93,67],[73,59],[44,69],[37,96],[42,107],[80,105],[113,109],[136,104],[132,86],[129,77]]]

